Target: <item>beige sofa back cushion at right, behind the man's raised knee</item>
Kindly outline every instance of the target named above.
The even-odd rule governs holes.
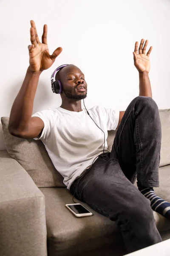
[[[162,127],[160,167],[170,164],[170,109],[159,110]],[[108,149],[111,151],[116,131],[108,132]]]

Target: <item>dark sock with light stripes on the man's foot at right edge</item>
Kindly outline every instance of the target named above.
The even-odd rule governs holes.
[[[139,191],[150,200],[150,206],[153,211],[170,219],[170,203],[155,195],[155,192],[151,187],[140,187]]]

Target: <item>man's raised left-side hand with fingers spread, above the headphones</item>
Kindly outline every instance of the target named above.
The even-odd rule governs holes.
[[[47,25],[44,25],[42,43],[40,43],[38,38],[37,29],[33,20],[31,20],[30,35],[31,45],[28,46],[30,70],[32,72],[42,72],[51,67],[56,57],[62,52],[62,48],[58,47],[52,55],[49,54],[47,45]]]

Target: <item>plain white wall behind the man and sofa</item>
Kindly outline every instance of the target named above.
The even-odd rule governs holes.
[[[0,0],[0,116],[11,105],[28,67],[29,20],[39,37],[48,25],[50,52],[63,52],[42,73],[34,112],[57,107],[60,96],[51,91],[50,76],[61,64],[75,64],[88,82],[86,107],[102,105],[125,110],[139,93],[133,66],[135,41],[153,46],[150,79],[159,108],[170,108],[169,0]]]

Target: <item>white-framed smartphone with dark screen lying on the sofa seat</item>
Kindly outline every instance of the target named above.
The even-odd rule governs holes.
[[[92,212],[81,204],[66,204],[65,206],[78,218],[93,215]]]

